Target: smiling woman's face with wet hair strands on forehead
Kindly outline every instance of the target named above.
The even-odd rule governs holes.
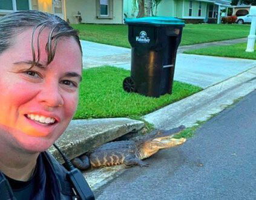
[[[46,66],[48,33],[45,30],[39,37],[38,66],[30,69],[31,29],[0,54],[0,140],[29,152],[48,149],[77,107],[82,73],[79,46],[73,37],[59,39],[54,59]]]

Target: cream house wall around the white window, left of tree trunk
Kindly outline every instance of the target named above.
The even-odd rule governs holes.
[[[99,19],[96,14],[96,0],[66,0],[67,19],[76,23],[77,11],[81,13],[82,23],[122,23],[122,1],[113,0],[113,19]]]

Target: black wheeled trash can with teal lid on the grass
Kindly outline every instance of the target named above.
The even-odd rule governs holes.
[[[125,19],[125,23],[131,44],[131,77],[123,80],[123,89],[153,97],[171,94],[184,20],[142,17]]]

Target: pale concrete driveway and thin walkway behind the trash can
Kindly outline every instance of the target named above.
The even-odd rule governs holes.
[[[231,45],[246,42],[246,39],[226,40],[198,45],[180,46],[176,58],[174,80],[206,87],[234,77],[238,73],[256,66],[255,60],[211,57],[205,55],[182,54],[186,49],[203,48],[214,45]],[[84,68],[111,65],[130,70],[131,49],[82,41]]]

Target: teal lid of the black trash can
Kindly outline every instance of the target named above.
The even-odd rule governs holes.
[[[127,24],[149,23],[152,25],[185,25],[184,20],[176,17],[141,17],[136,19],[124,19]]]

